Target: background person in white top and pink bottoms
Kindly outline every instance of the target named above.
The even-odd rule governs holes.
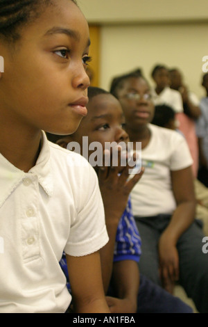
[[[184,86],[183,78],[180,70],[176,68],[170,71],[171,88],[180,92],[183,101],[184,113],[175,116],[178,120],[178,129],[182,131],[187,140],[191,157],[193,159],[193,175],[198,175],[198,137],[196,136],[196,119],[200,117],[201,111],[199,108],[198,97]]]

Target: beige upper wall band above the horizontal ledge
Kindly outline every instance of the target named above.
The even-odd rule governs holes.
[[[207,0],[78,0],[91,23],[207,19]]]

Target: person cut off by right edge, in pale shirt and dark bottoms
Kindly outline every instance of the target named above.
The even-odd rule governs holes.
[[[208,73],[202,77],[202,86],[205,88],[206,96],[200,100],[201,115],[196,121],[200,160],[198,179],[208,187]]]

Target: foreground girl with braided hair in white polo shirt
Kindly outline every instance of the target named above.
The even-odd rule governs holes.
[[[89,29],[75,0],[0,0],[0,312],[110,312],[94,169],[49,143],[87,114]],[[77,165],[77,162],[79,165]]]

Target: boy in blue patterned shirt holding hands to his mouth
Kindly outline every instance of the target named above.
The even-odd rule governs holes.
[[[71,136],[51,136],[62,146],[78,143],[83,150],[83,136],[92,142],[128,142],[128,134],[123,129],[124,116],[119,101],[101,88],[89,87],[88,114]],[[73,143],[71,143],[73,142]],[[85,149],[86,150],[86,149]],[[89,152],[89,155],[92,151]],[[89,160],[90,161],[90,160]],[[142,171],[129,179],[129,166],[94,166],[105,207],[105,220],[109,243],[101,250],[103,284],[107,292],[107,303],[111,312],[191,312],[191,308],[172,296],[162,287],[139,274],[137,262],[141,255],[141,239],[135,219],[132,216],[130,191],[140,180]],[[60,262],[67,276],[64,255]],[[69,278],[67,276],[69,282]]]

